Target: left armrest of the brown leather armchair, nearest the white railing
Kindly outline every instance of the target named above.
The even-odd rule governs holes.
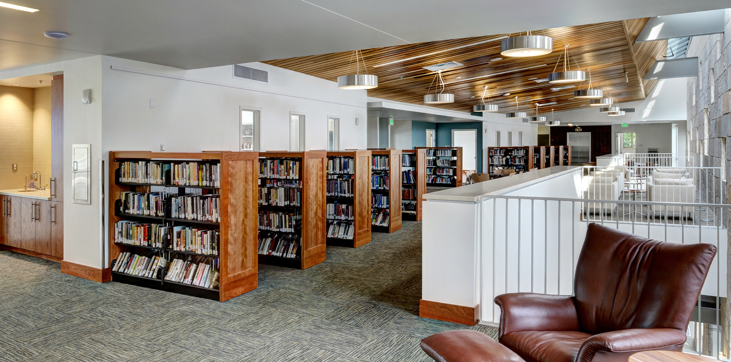
[[[500,309],[499,339],[519,331],[578,331],[579,316],[572,296],[507,293],[495,297]]]

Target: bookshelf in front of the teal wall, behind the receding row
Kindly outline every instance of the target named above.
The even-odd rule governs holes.
[[[426,185],[462,185],[462,147],[416,147],[426,150]]]

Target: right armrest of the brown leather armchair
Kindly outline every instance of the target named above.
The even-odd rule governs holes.
[[[595,334],[581,345],[576,362],[591,362],[600,351],[640,352],[683,344],[685,331],[675,328],[632,328]]]

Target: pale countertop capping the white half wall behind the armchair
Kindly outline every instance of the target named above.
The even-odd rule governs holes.
[[[553,166],[548,169],[539,169],[536,171],[525,172],[523,174],[514,174],[508,177],[500,177],[498,179],[488,180],[485,182],[477,182],[471,185],[464,185],[458,188],[450,188],[448,190],[436,191],[433,193],[425,193],[425,200],[447,200],[447,201],[469,201],[477,202],[482,195],[503,195],[538,182],[557,177],[561,174],[575,172],[581,166]]]

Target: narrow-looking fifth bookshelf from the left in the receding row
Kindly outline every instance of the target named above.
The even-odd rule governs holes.
[[[426,192],[426,150],[401,150],[401,217],[421,220],[421,196]]]

